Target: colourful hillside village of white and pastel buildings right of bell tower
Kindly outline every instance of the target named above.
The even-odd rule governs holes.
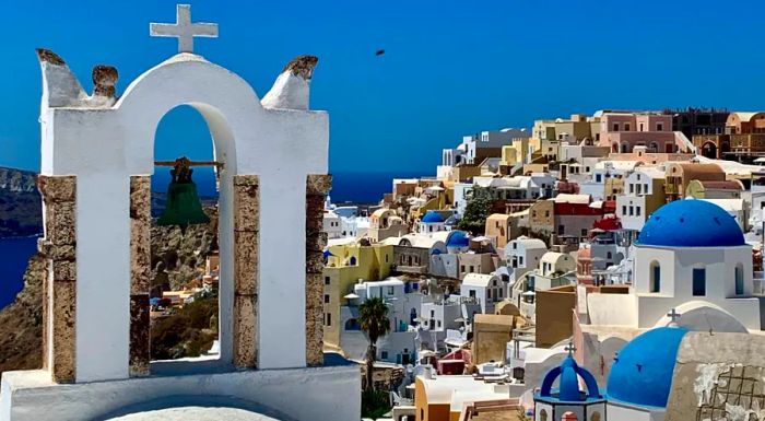
[[[674,360],[765,347],[763,164],[765,113],[600,110],[466,136],[365,214],[326,203],[325,348],[365,360],[360,308],[381,299],[373,382],[396,420],[718,419],[732,397],[696,399]]]

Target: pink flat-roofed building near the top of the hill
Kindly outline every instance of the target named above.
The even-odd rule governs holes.
[[[672,116],[660,113],[604,112],[600,118],[600,145],[612,152],[633,152],[646,147],[648,152],[672,153],[680,140],[672,131]]]

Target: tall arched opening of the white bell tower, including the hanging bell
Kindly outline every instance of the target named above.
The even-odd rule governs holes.
[[[151,176],[151,361],[220,358],[217,171],[204,117],[163,116]],[[172,259],[168,258],[173,257]]]

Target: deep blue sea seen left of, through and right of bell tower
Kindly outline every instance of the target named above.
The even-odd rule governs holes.
[[[392,188],[393,178],[419,177],[420,173],[333,173],[330,196],[333,202],[376,203]],[[152,177],[152,189],[166,191],[170,176],[157,171]],[[200,168],[195,182],[201,196],[216,196],[212,171]],[[35,254],[36,237],[0,238],[0,308],[13,302],[24,286],[23,276],[30,257]]]

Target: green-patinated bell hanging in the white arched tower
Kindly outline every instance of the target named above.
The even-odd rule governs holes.
[[[191,180],[193,169],[190,164],[187,157],[180,157],[170,169],[173,180],[167,188],[167,202],[162,217],[156,221],[157,225],[178,225],[183,232],[186,232],[189,225],[210,222],[210,218],[202,209],[197,185]]]

